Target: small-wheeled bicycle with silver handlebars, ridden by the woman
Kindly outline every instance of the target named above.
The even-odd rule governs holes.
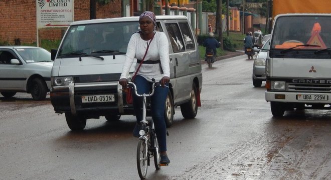
[[[150,121],[146,120],[146,97],[152,96],[154,94],[154,88],[159,84],[159,82],[155,82],[155,79],[152,79],[152,89],[149,94],[138,94],[137,87],[133,82],[128,82],[128,86],[133,88],[135,95],[142,97],[142,120],[141,123],[141,130],[139,131],[139,141],[137,145],[137,168],[138,174],[141,179],[144,179],[147,174],[147,165],[150,165],[150,158],[154,158],[154,165],[156,170],[161,168],[161,165],[168,165],[168,164],[161,164],[160,160],[160,150],[158,147],[158,141],[156,137],[155,127],[153,119]],[[150,125],[148,125],[150,124]]]

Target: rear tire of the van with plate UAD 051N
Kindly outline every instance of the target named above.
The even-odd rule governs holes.
[[[194,118],[198,113],[197,86],[194,82],[192,84],[190,100],[181,105],[181,111],[184,118]]]

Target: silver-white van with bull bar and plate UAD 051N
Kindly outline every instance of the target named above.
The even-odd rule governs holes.
[[[73,22],[59,49],[52,49],[50,98],[55,112],[65,113],[70,129],[83,129],[88,118],[118,120],[134,114],[118,80],[128,41],[139,30],[138,20],[131,16]],[[156,26],[170,45],[171,80],[164,117],[171,126],[176,106],[185,118],[194,118],[201,106],[199,46],[186,16],[156,16]]]

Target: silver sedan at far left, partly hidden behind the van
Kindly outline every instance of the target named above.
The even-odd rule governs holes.
[[[0,93],[12,97],[17,92],[31,93],[44,100],[51,88],[51,53],[35,46],[0,46]]]

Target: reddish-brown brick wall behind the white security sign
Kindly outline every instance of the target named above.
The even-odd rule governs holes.
[[[97,18],[120,17],[122,0],[113,0],[105,5],[97,3]],[[74,18],[90,17],[90,0],[74,1]],[[0,42],[14,40],[31,43],[37,41],[36,0],[0,0]],[[66,28],[64,28],[66,29]],[[62,28],[39,30],[40,39],[61,39]]]

